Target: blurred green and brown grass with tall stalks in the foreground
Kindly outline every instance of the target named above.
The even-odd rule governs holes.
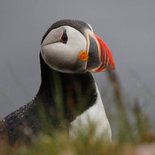
[[[149,151],[155,148],[155,131],[139,106],[139,100],[135,99],[133,106],[127,108],[127,99],[124,98],[117,75],[114,72],[107,75],[110,84],[108,93],[114,103],[108,109],[114,135],[111,143],[92,139],[93,130],[89,135],[79,133],[75,139],[69,138],[65,131],[55,131],[52,135],[49,132],[41,134],[30,146],[17,143],[11,147],[1,142],[0,155],[137,155],[137,150],[146,145],[152,146]]]

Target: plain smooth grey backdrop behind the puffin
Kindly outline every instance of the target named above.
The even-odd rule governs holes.
[[[154,0],[1,0],[0,117],[35,96],[40,85],[40,40],[53,22],[65,18],[92,25],[114,55],[124,93],[139,97],[153,120]],[[95,78],[102,90],[105,74]]]

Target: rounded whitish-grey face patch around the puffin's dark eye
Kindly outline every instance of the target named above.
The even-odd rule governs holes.
[[[66,72],[85,72],[87,60],[79,59],[87,51],[87,41],[81,32],[70,26],[53,29],[41,45],[41,55],[48,66]]]

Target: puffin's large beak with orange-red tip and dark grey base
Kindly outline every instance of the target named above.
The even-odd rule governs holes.
[[[107,69],[114,70],[115,63],[108,46],[94,33],[87,34],[87,41],[87,70],[92,72],[103,72]]]

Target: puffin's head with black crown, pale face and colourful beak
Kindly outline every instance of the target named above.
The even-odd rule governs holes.
[[[91,26],[79,20],[60,20],[45,33],[41,56],[52,69],[65,73],[100,72],[114,69],[107,45]]]

